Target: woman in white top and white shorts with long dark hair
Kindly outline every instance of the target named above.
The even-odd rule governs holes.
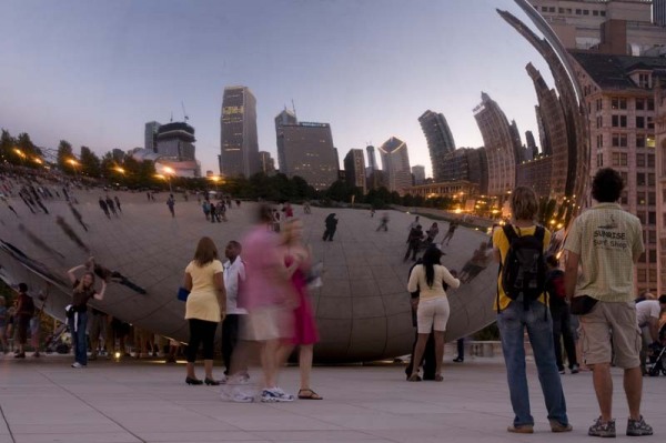
[[[407,291],[420,291],[418,308],[416,309],[416,323],[418,330],[418,339],[414,350],[414,361],[420,362],[427,336],[431,330],[435,331],[435,381],[441,382],[442,377],[442,359],[444,358],[444,331],[448,322],[448,300],[444,283],[450,288],[458,288],[461,281],[454,278],[446,268],[440,264],[442,251],[437,248],[428,248],[423,254],[423,264],[414,266],[407,283]],[[412,375],[408,379],[411,382],[418,382],[418,364],[412,368]]]

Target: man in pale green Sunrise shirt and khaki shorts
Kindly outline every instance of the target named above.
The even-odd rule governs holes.
[[[627,435],[653,433],[640,415],[640,335],[634,303],[634,263],[644,251],[643,232],[638,218],[617,204],[623,188],[617,171],[610,168],[598,170],[592,183],[592,197],[597,204],[574,220],[564,246],[568,251],[567,299],[576,298],[574,306],[584,301],[588,306],[594,304],[581,315],[581,340],[585,363],[593,371],[602,413],[588,434],[603,437],[615,436],[613,354],[615,364],[624,369],[624,389],[629,405]]]

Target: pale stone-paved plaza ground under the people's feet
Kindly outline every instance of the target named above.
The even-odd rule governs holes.
[[[185,385],[182,362],[103,360],[83,370],[70,363],[67,355],[0,356],[0,443],[595,441],[587,436],[597,416],[591,373],[563,376],[574,432],[553,434],[533,363],[536,433],[508,434],[513,414],[501,358],[446,363],[442,383],[407,383],[396,364],[316,366],[313,387],[325,399],[281,404],[223,402],[218,387]],[[617,440],[628,441],[622,373],[613,375]],[[297,377],[287,368],[281,384],[295,392]],[[665,379],[645,379],[644,414],[656,435],[642,441],[666,435]]]

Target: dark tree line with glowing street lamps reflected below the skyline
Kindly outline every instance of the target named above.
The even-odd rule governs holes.
[[[56,161],[48,163],[43,152],[34,145],[28,133],[12,137],[2,130],[0,135],[0,161],[27,168],[56,168],[61,173],[74,179],[101,181],[104,185],[127,187],[128,189],[153,189],[176,191],[220,191],[240,199],[263,199],[269,201],[305,201],[320,200],[324,204],[343,202],[370,204],[376,209],[389,204],[405,207],[426,207],[451,209],[455,201],[447,197],[424,199],[420,195],[400,195],[386,188],[372,189],[367,193],[357,187],[337,180],[326,190],[315,190],[301,177],[289,178],[283,173],[268,175],[263,172],[250,178],[220,178],[213,181],[206,178],[159,177],[152,161],[137,161],[132,155],[123,153],[114,157],[112,152],[101,158],[89,147],[79,148],[78,155],[67,140],[58,144]],[[39,159],[39,161],[38,161]]]

